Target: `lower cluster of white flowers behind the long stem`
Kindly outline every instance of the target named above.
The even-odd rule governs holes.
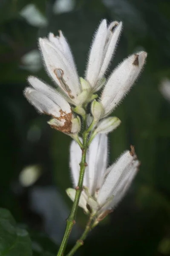
[[[75,141],[70,147],[70,167],[73,186],[78,185],[81,149]],[[87,152],[87,167],[84,176],[84,191],[79,206],[85,212],[93,212],[101,219],[121,201],[138,170],[139,161],[132,151],[125,151],[119,159],[107,168],[107,135],[98,134]],[[74,201],[75,189],[66,190]]]

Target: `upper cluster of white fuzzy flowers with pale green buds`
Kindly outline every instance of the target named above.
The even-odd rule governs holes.
[[[66,134],[78,134],[81,119],[75,116],[73,110],[84,116],[84,106],[90,101],[95,134],[108,133],[120,124],[118,118],[106,117],[130,90],[147,56],[146,52],[130,55],[115,68],[106,81],[104,75],[112,60],[121,29],[121,22],[114,21],[107,26],[105,19],[101,21],[92,41],[84,79],[78,77],[72,52],[61,31],[59,36],[49,33],[48,38],[39,39],[46,71],[61,88],[61,93],[30,76],[28,81],[31,87],[27,87],[24,94],[40,113],[52,116],[48,122],[52,128]],[[101,97],[96,101],[98,96],[95,93],[102,87],[104,89]]]

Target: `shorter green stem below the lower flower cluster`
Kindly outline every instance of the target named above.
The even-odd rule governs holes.
[[[72,248],[72,250],[66,255],[66,256],[72,256],[75,254],[76,250],[78,250],[79,247],[81,247],[84,244],[84,240],[86,239],[89,231],[91,230],[91,222],[92,222],[93,217],[90,216],[89,221],[86,225],[86,228],[84,230],[84,233],[82,234],[81,238],[78,239],[76,242],[75,246]]]

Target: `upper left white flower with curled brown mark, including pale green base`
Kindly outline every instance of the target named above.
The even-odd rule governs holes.
[[[59,36],[49,33],[49,38],[39,39],[46,70],[70,103],[78,106],[87,98],[87,90],[81,87],[72,52],[61,30]]]

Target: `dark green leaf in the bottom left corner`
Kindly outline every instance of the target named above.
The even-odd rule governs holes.
[[[16,226],[7,209],[0,208],[0,256],[32,256],[28,232]]]

